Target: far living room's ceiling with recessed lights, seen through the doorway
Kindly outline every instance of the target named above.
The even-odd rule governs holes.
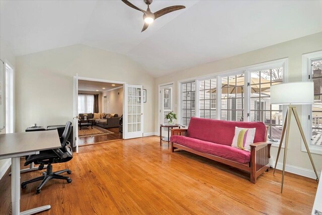
[[[122,87],[123,85],[104,82],[92,82],[85,80],[78,80],[78,91],[104,92],[113,88]],[[103,89],[105,88],[105,89]]]

